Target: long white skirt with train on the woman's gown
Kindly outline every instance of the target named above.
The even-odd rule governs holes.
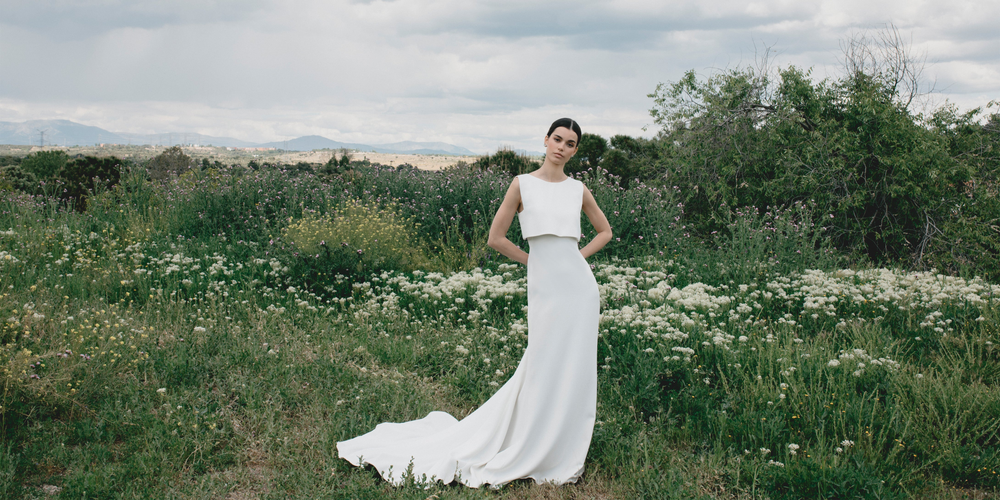
[[[419,482],[473,488],[580,477],[597,412],[600,294],[575,239],[528,244],[528,346],[510,379],[461,421],[433,411],[379,424],[337,443],[341,458],[371,464],[393,484],[408,470]]]

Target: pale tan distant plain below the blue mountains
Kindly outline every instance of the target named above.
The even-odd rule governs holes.
[[[334,150],[314,150],[314,151],[230,151],[226,148],[213,146],[182,146],[184,152],[196,159],[208,158],[218,160],[226,164],[241,163],[246,164],[250,160],[281,163],[326,163],[331,155],[339,154]],[[166,149],[166,146],[11,146],[0,145],[0,155],[28,155],[36,151],[43,150],[63,150],[69,155],[90,155],[90,156],[117,156],[119,158],[129,158],[136,160],[147,160]],[[368,159],[372,163],[382,165],[402,165],[408,163],[423,170],[440,170],[454,165],[460,161],[472,163],[477,156],[452,156],[452,155],[404,155],[389,153],[352,153],[355,159]]]

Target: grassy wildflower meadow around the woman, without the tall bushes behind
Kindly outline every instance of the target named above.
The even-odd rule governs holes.
[[[0,496],[998,498],[1000,285],[852,264],[810,207],[708,239],[669,187],[582,178],[617,238],[587,469],[499,490],[391,487],[335,444],[512,373],[525,272],[485,246],[506,174],[133,165],[84,211],[0,192]]]

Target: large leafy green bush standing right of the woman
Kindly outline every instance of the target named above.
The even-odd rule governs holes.
[[[812,200],[835,216],[836,247],[876,262],[909,259],[973,169],[898,91],[864,73],[814,83],[794,67],[704,81],[688,72],[651,94],[666,181],[681,188],[702,232],[720,229],[713,221],[723,202],[763,209]]]

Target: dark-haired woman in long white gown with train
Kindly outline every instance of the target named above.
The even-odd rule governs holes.
[[[337,443],[341,458],[372,464],[394,484],[407,471],[473,488],[522,478],[563,484],[583,473],[597,412],[600,314],[585,259],[611,240],[611,226],[590,190],[563,171],[581,136],[575,121],[556,120],[541,168],[514,178],[490,227],[490,247],[528,266],[528,347],[510,380],[461,421],[435,411],[379,424]],[[581,210],[597,230],[582,250]],[[507,239],[514,214],[530,254]]]

